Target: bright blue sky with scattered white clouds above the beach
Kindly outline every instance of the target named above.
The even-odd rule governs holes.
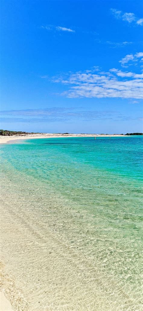
[[[142,132],[142,1],[1,2],[1,128]]]

